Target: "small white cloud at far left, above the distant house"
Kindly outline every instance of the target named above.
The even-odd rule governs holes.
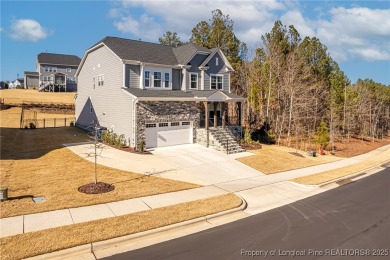
[[[18,19],[11,24],[10,37],[16,41],[32,41],[46,39],[47,29],[33,19]]]

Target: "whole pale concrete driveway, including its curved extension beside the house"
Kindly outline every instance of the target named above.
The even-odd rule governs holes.
[[[92,143],[65,144],[71,151],[94,162]],[[128,153],[109,146],[102,146],[98,164],[141,174],[212,185],[238,181],[264,174],[246,166],[235,158],[251,153],[227,155],[198,144],[177,145],[150,150],[151,154]]]

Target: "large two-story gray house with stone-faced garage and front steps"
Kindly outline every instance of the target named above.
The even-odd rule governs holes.
[[[227,129],[240,125],[244,101],[230,92],[232,72],[220,49],[106,37],[85,52],[76,73],[77,125],[107,127],[131,147],[197,142],[242,151]]]

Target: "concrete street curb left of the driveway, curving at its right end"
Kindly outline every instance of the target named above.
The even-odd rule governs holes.
[[[70,257],[77,257],[77,256],[84,255],[84,254],[93,254],[95,251],[98,251],[98,250],[114,248],[114,247],[117,247],[119,245],[125,245],[128,243],[131,243],[132,240],[136,239],[136,238],[142,238],[142,237],[155,235],[155,234],[166,232],[169,230],[185,227],[185,226],[188,226],[191,224],[196,224],[196,223],[200,223],[200,222],[208,222],[211,219],[215,219],[215,218],[222,217],[222,216],[227,216],[227,215],[239,212],[239,211],[244,211],[247,208],[248,203],[241,196],[239,196],[237,194],[234,194],[234,195],[241,199],[241,205],[237,208],[225,210],[225,211],[214,213],[211,215],[198,217],[195,219],[186,220],[186,221],[171,224],[168,226],[163,226],[163,227],[159,227],[159,228],[155,228],[155,229],[151,229],[151,230],[146,230],[146,231],[131,234],[131,235],[126,235],[126,236],[122,236],[122,237],[107,239],[104,241],[79,245],[76,247],[67,248],[67,249],[63,249],[63,250],[59,250],[59,251],[54,251],[54,252],[47,253],[47,254],[37,255],[37,256],[33,256],[33,257],[25,258],[25,259],[28,259],[28,260],[64,259],[64,258],[70,258]]]

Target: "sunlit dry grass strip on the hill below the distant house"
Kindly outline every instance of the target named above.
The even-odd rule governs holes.
[[[0,91],[0,98],[5,104],[33,103],[63,103],[74,104],[75,92],[39,92],[32,89],[4,89]]]

